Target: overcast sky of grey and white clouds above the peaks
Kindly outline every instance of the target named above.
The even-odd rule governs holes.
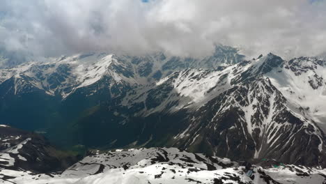
[[[326,51],[325,20],[316,0],[1,0],[0,45],[40,56],[205,56],[221,43],[247,56],[311,56]]]

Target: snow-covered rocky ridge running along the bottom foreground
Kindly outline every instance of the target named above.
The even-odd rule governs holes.
[[[272,162],[265,161],[263,164]],[[275,162],[274,162],[275,164]],[[274,167],[276,167],[274,165]],[[93,151],[62,173],[1,169],[1,183],[325,183],[326,170],[294,165],[251,166],[177,148]],[[248,174],[248,172],[253,172]]]

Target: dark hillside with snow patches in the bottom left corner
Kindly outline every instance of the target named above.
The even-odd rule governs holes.
[[[42,136],[0,125],[0,181],[61,171],[77,159],[56,150]],[[9,182],[10,183],[10,182]]]

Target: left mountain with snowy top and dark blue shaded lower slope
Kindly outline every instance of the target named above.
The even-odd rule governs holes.
[[[130,70],[107,54],[62,57],[1,70],[1,121],[28,130],[64,125],[137,85]],[[22,123],[26,119],[29,123]]]

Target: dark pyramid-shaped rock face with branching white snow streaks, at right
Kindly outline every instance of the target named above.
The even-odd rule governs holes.
[[[305,165],[325,160],[323,132],[292,112],[269,80],[235,86],[189,116],[189,128],[174,137],[183,148],[208,144],[213,155]]]

